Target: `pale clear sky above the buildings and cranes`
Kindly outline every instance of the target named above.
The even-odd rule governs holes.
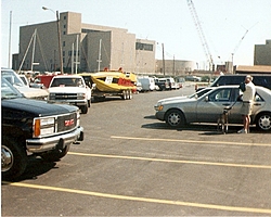
[[[271,39],[271,0],[192,1],[214,63],[254,65],[255,44]],[[17,53],[20,26],[55,21],[53,11],[81,13],[82,23],[155,40],[156,59],[163,59],[164,44],[166,60],[207,63],[188,0],[1,0],[1,66],[9,66],[10,29],[11,53]]]

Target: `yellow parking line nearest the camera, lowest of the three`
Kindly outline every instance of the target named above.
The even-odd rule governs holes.
[[[76,194],[90,195],[90,196],[100,196],[100,197],[115,199],[115,200],[138,201],[138,202],[146,202],[146,203],[158,203],[158,204],[166,204],[166,205],[189,206],[189,207],[219,209],[219,210],[229,210],[229,212],[244,212],[244,213],[254,213],[254,214],[271,214],[271,209],[264,209],[264,208],[224,206],[224,205],[202,204],[202,203],[192,203],[192,202],[182,202],[182,201],[170,201],[170,200],[163,200],[163,199],[127,196],[127,195],[101,193],[101,192],[93,192],[93,191],[83,191],[83,190],[67,189],[67,188],[60,188],[60,187],[48,187],[48,186],[30,184],[30,183],[22,183],[22,182],[2,181],[2,183],[10,184],[10,186],[13,186],[13,187],[31,188],[31,189],[49,190],[49,191],[59,191],[59,192],[66,192],[66,193],[76,193]]]

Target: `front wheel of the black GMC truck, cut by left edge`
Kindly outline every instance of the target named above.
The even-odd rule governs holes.
[[[2,138],[2,178],[11,180],[21,176],[27,166],[27,154],[24,145],[12,138]]]

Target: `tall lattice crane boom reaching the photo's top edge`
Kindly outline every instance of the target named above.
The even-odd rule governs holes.
[[[198,16],[197,16],[197,13],[196,13],[196,10],[195,10],[193,1],[192,0],[188,0],[188,5],[189,5],[190,12],[192,14],[192,17],[194,20],[194,23],[195,23],[196,30],[198,33],[199,39],[202,41],[202,46],[203,46],[203,49],[204,49],[207,62],[209,63],[209,69],[211,69],[211,67],[214,65],[214,61],[212,61],[212,58],[211,58],[211,54],[210,54],[210,50],[209,50],[206,37],[204,35],[204,31],[203,31],[203,27],[202,27],[201,22],[198,20]],[[212,67],[212,69],[215,69],[215,68]]]

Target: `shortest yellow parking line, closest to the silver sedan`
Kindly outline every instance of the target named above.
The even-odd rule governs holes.
[[[126,139],[126,140],[143,140],[143,141],[199,143],[199,144],[232,144],[232,145],[247,145],[247,146],[251,146],[251,145],[254,145],[254,146],[271,146],[271,143],[245,143],[245,142],[227,142],[227,141],[199,141],[199,140],[182,140],[182,139],[118,137],[118,136],[111,136],[111,138],[112,139]]]

